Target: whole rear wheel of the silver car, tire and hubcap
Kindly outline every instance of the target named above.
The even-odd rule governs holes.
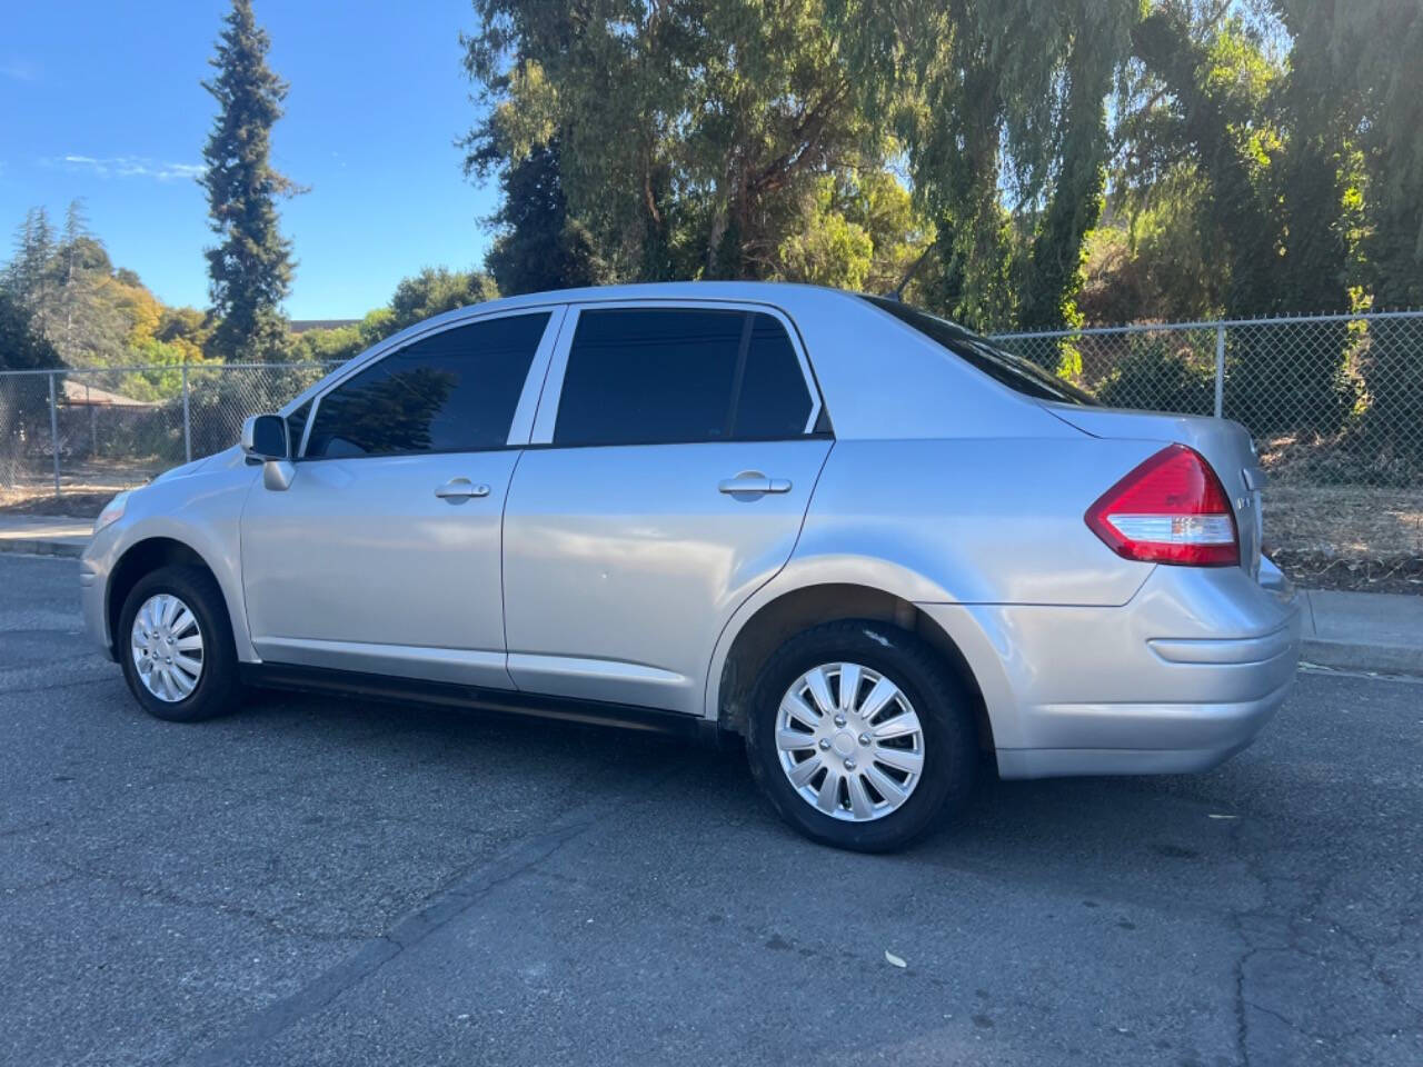
[[[751,773],[776,811],[835,848],[901,848],[961,807],[976,741],[963,687],[898,627],[834,622],[761,670],[747,721]]]

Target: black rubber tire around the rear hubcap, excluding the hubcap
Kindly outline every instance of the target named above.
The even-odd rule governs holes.
[[[919,717],[921,778],[898,809],[877,819],[852,822],[822,812],[795,791],[781,768],[776,747],[781,699],[801,674],[827,663],[857,663],[878,671],[899,687]],[[747,755],[771,807],[801,834],[832,848],[888,852],[965,804],[973,787],[978,740],[963,686],[933,649],[888,623],[852,619],[797,635],[766,663],[747,716]]]

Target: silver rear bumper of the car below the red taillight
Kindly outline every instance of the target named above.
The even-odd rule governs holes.
[[[1005,778],[1215,767],[1271,720],[1299,660],[1295,592],[1268,563],[1261,582],[1158,566],[1120,607],[922,607],[975,670]]]

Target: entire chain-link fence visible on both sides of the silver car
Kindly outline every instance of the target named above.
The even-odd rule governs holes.
[[[1423,312],[996,340],[1109,404],[1241,421],[1271,475],[1275,552],[1410,561],[1423,585]],[[229,447],[246,415],[333,366],[0,371],[0,506],[94,509],[97,497]]]

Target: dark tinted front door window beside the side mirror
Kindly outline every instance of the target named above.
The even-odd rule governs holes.
[[[322,397],[306,455],[495,448],[548,313],[490,319],[407,344]]]

